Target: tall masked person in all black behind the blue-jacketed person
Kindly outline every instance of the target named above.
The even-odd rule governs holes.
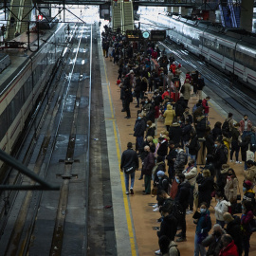
[[[178,239],[176,242],[185,242],[187,241],[186,238],[186,210],[189,206],[190,200],[190,192],[191,192],[191,184],[188,180],[185,179],[184,174],[176,174],[175,181],[178,184],[178,191],[174,198],[174,204],[178,206],[181,210],[180,212],[180,222],[179,225],[181,226],[181,232],[176,234]]]

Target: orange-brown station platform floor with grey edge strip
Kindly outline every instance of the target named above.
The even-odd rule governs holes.
[[[136,172],[134,195],[125,194],[124,175],[119,170],[120,156],[126,150],[127,142],[133,142],[133,129],[137,119],[136,102],[130,104],[131,119],[124,119],[126,113],[121,112],[120,89],[116,84],[118,77],[118,66],[110,62],[109,58],[103,58],[101,44],[99,46],[100,67],[101,67],[101,87],[104,103],[104,122],[106,126],[107,149],[109,158],[109,168],[111,176],[111,189],[113,199],[113,211],[115,232],[117,240],[118,255],[155,255],[158,249],[158,239],[155,227],[160,224],[156,219],[160,217],[159,212],[154,212],[152,205],[156,203],[155,197],[150,194],[144,195],[144,180],[138,180],[141,170]],[[184,82],[186,70],[182,69],[181,82]],[[207,84],[206,84],[207,87]],[[152,94],[148,94],[151,98]],[[203,94],[203,97],[206,95]],[[210,95],[209,95],[210,96]],[[189,106],[196,103],[198,99],[193,96],[189,101]],[[217,104],[210,100],[210,127],[213,128],[216,121],[224,122],[229,110],[225,104]],[[241,117],[242,119],[243,117]],[[239,121],[238,119],[236,121]],[[158,120],[157,136],[165,130],[164,123]],[[135,146],[134,146],[135,148]],[[241,155],[240,155],[241,160]],[[243,192],[243,170],[244,164],[228,162],[234,169],[239,179],[240,191]],[[211,205],[215,206],[212,199]],[[240,215],[240,214],[238,214]],[[212,226],[215,224],[214,210],[210,207],[210,218]],[[181,255],[193,255],[194,233],[196,226],[192,222],[192,214],[186,216],[187,221],[187,241],[178,244]],[[212,232],[212,229],[210,233]],[[250,239],[250,255],[256,253],[256,235]]]

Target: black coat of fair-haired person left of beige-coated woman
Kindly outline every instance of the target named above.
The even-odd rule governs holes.
[[[198,205],[202,202],[206,202],[210,207],[211,192],[213,188],[213,177],[203,177],[202,174],[198,174],[196,177],[196,183],[198,184]]]

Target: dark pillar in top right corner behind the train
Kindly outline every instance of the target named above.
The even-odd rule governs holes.
[[[251,32],[254,0],[242,0],[240,28]]]

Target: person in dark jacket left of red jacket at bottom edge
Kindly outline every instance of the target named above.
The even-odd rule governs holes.
[[[221,236],[226,234],[226,231],[219,224],[213,226],[213,232],[202,241],[203,247],[209,247],[207,256],[219,256],[221,245]]]

